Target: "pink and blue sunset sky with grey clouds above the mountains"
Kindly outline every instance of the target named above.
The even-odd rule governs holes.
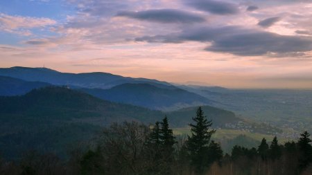
[[[312,88],[312,0],[0,1],[0,67]]]

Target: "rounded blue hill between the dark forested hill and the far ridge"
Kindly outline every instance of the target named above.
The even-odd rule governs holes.
[[[177,109],[211,104],[211,101],[183,89],[164,89],[151,84],[121,84],[112,89],[81,89],[104,100],[123,102],[149,109]]]

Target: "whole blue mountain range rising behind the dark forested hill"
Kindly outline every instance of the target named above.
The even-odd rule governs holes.
[[[121,77],[109,73],[60,73],[48,68],[0,68],[0,75],[9,77],[0,78],[0,95],[22,95],[38,86],[26,81],[41,81],[37,84],[54,84],[80,89],[85,93],[112,102],[123,102],[148,109],[173,111],[183,107],[199,105],[214,105],[214,102],[184,89],[177,88],[166,82],[148,80],[144,78]],[[20,78],[18,80],[17,78]],[[15,86],[17,88],[15,88]],[[46,85],[45,85],[46,86]],[[12,89],[11,89],[12,87]],[[32,88],[33,87],[33,88]],[[2,92],[2,93],[1,93]]]

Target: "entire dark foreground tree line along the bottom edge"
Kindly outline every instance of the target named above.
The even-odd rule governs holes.
[[[71,150],[68,160],[30,151],[18,161],[0,160],[0,174],[125,174],[125,175],[305,175],[312,174],[309,133],[297,142],[280,145],[275,137],[259,147],[234,146],[223,154],[216,132],[199,107],[189,125],[189,136],[174,136],[168,118],[146,126],[114,123],[90,142],[87,149]]]

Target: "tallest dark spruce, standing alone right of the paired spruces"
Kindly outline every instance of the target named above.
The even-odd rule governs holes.
[[[192,118],[195,124],[190,124],[191,137],[188,138],[187,146],[191,158],[191,165],[195,168],[195,172],[201,174],[207,167],[208,145],[211,135],[216,132],[210,129],[211,120],[207,120],[204,116],[202,108],[196,111],[196,117]]]

